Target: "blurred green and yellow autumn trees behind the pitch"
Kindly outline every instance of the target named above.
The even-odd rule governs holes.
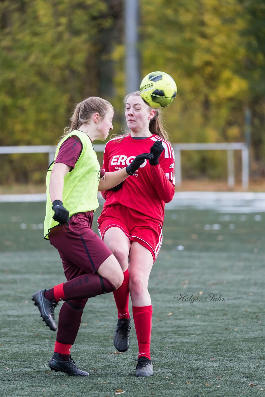
[[[166,71],[178,94],[163,111],[171,141],[244,142],[251,175],[265,176],[265,2],[139,1],[141,75]],[[124,1],[0,1],[0,145],[56,145],[90,95],[124,125]],[[138,87],[135,87],[137,89]],[[45,180],[47,156],[0,156],[1,183]],[[224,152],[186,152],[190,178],[226,177]]]

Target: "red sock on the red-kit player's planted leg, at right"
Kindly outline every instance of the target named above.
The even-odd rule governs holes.
[[[133,321],[139,346],[138,358],[144,356],[151,360],[150,342],[152,330],[152,305],[133,306]]]

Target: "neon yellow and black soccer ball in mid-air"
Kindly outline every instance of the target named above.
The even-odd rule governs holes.
[[[177,86],[170,75],[152,72],[146,75],[140,85],[140,95],[151,108],[169,106],[177,93]]]

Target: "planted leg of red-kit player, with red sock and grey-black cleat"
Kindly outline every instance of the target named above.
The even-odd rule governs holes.
[[[153,375],[150,357],[152,305],[148,292],[148,280],[153,266],[153,255],[143,245],[132,242],[129,255],[129,291],[133,306],[133,320],[139,345],[136,376]]]

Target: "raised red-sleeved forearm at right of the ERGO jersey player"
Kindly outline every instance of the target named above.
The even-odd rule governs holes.
[[[150,173],[159,198],[164,202],[170,202],[175,193],[174,184],[166,177],[160,164],[151,166]]]

